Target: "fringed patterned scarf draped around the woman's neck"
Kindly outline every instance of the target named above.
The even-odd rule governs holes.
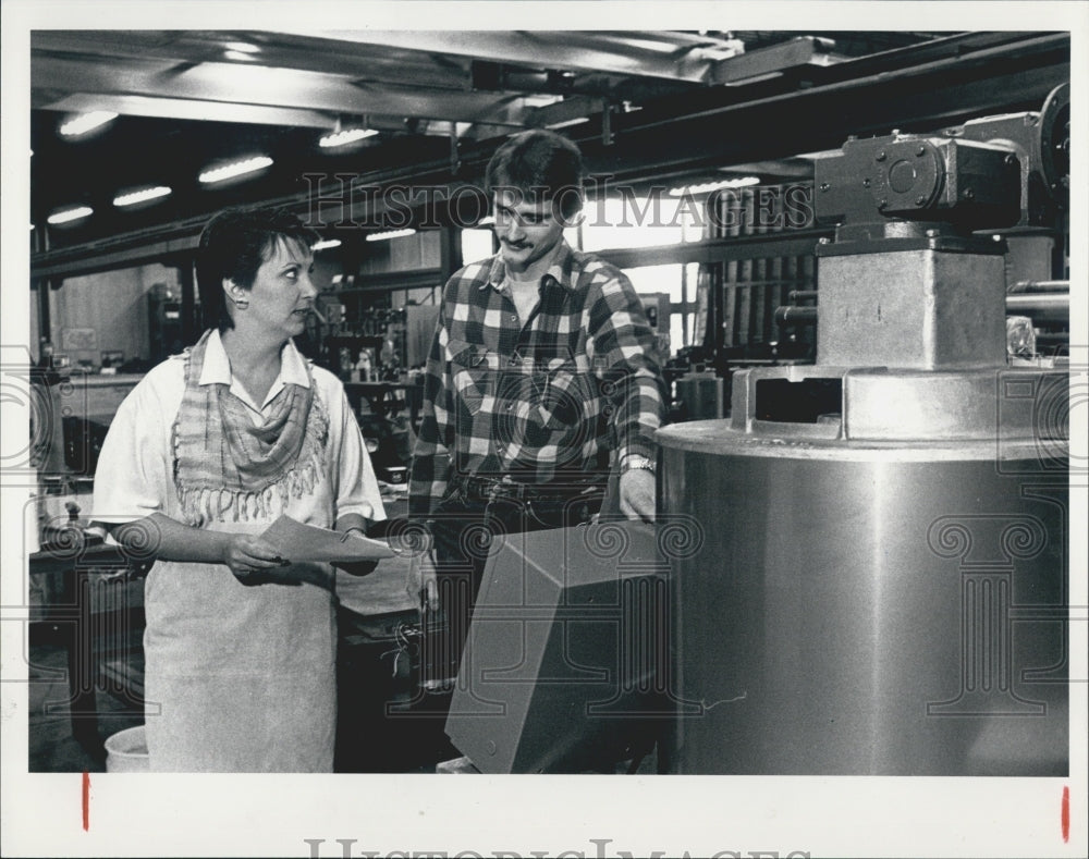
[[[273,518],[321,479],[329,417],[310,375],[309,388],[285,384],[255,426],[229,385],[199,384],[210,334],[186,352],[185,393],[173,426],[182,512],[194,527]]]

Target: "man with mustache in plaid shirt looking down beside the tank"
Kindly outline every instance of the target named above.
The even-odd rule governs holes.
[[[654,334],[627,278],[564,241],[580,183],[572,142],[509,139],[486,174],[499,253],[443,291],[408,501],[433,547],[409,589],[445,614],[444,634],[425,637],[425,688],[452,686],[494,539],[588,520],[610,461],[619,510],[654,517]]]

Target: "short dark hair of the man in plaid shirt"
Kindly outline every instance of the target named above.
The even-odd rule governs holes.
[[[540,194],[560,203],[560,214],[572,218],[583,206],[583,156],[561,134],[544,128],[521,132],[507,139],[488,162],[485,191]]]

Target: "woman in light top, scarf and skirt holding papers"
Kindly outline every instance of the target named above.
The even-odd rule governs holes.
[[[156,557],[152,771],[332,770],[335,574],[285,564],[260,537],[281,514],[359,532],[386,518],[343,386],[292,343],[317,294],[316,238],[282,210],[216,216],[197,277],[217,327],[140,381],[102,445],[95,518]]]

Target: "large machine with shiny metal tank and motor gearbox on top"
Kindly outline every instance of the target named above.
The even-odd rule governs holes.
[[[1006,283],[1015,243],[1050,265],[1068,165],[1068,87],[817,161],[816,363],[658,434],[702,539],[671,560],[671,771],[1067,774],[1068,369],[1007,360]]]

